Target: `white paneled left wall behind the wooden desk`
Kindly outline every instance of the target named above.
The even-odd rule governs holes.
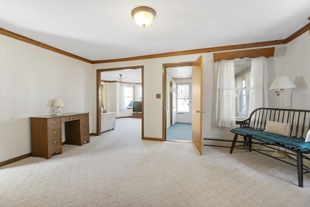
[[[31,152],[31,116],[92,112],[92,65],[0,35],[0,161]],[[92,127],[92,113],[90,127]]]

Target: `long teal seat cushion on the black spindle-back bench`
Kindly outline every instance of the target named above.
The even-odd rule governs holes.
[[[249,127],[239,127],[234,128],[231,132],[235,134],[240,134],[243,136],[251,136],[256,140],[265,142],[265,143],[277,143],[285,146],[286,148],[290,148],[293,150],[300,150],[302,152],[310,151],[310,143],[305,142],[305,138],[303,137],[287,137],[284,135],[274,134],[270,132],[265,132],[262,130],[257,130]]]

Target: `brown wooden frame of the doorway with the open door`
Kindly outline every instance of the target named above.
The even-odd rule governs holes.
[[[166,91],[167,91],[167,67],[182,67],[182,66],[192,66],[195,61],[190,61],[190,62],[181,62],[181,63],[169,63],[169,64],[163,64],[163,92],[162,92],[162,141],[166,141],[167,138],[167,109],[166,109]]]

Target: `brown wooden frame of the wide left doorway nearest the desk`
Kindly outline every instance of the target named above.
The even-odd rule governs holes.
[[[107,68],[107,69],[97,69],[96,70],[96,92],[97,92],[97,96],[96,96],[96,114],[97,114],[97,126],[96,126],[96,134],[97,136],[101,135],[101,72],[105,72],[105,71],[112,71],[112,70],[124,70],[124,69],[140,69],[141,68],[141,87],[142,87],[142,98],[141,98],[141,102],[142,102],[142,117],[141,117],[141,138],[144,138],[144,122],[143,122],[143,99],[144,99],[144,90],[143,90],[143,86],[144,86],[144,79],[143,79],[143,70],[144,70],[144,66],[143,65],[138,65],[138,66],[128,66],[128,67],[117,67],[117,68]]]

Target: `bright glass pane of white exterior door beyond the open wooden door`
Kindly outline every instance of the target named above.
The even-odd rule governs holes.
[[[177,90],[177,100],[176,100],[177,112],[189,112],[190,83],[186,84],[177,83],[176,90]]]

